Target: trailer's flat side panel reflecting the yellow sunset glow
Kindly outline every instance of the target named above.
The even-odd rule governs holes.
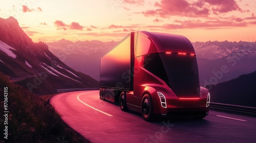
[[[100,60],[100,87],[130,90],[131,36],[125,37]]]

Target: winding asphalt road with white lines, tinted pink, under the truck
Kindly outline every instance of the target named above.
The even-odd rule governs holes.
[[[63,121],[92,142],[255,142],[256,118],[217,111],[202,120],[158,118],[123,112],[99,99],[99,90],[60,93],[50,103]]]

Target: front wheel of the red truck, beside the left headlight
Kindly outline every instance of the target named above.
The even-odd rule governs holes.
[[[152,99],[148,94],[143,96],[141,102],[141,114],[145,121],[152,121],[153,120],[153,104]]]

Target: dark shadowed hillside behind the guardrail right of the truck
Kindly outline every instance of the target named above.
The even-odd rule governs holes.
[[[206,87],[211,102],[256,107],[256,71]]]

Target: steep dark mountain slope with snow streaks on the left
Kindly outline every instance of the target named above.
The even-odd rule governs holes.
[[[54,56],[44,42],[34,43],[15,18],[0,18],[0,33],[0,72],[12,82],[37,94],[99,86],[98,81]]]

